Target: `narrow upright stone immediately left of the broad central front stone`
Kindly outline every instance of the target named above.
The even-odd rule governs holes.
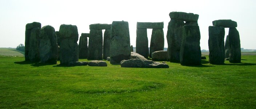
[[[107,59],[110,56],[110,29],[106,29],[104,32],[103,40],[103,59]]]

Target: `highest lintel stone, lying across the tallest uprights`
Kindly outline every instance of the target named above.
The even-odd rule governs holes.
[[[199,15],[185,12],[170,12],[169,16],[171,19],[183,20],[183,21],[197,21]]]

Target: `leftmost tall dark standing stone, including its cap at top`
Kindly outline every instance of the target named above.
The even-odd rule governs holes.
[[[39,30],[41,23],[33,22],[26,25],[25,31],[25,61],[40,61]]]

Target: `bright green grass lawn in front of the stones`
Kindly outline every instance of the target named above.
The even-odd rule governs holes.
[[[208,57],[207,57],[208,59]],[[168,69],[47,65],[0,57],[0,108],[256,107],[256,56]],[[87,60],[79,60],[87,61]]]

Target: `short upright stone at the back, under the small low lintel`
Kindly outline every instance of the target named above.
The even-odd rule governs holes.
[[[80,36],[79,39],[79,58],[87,58],[88,55],[88,40],[86,36]]]

